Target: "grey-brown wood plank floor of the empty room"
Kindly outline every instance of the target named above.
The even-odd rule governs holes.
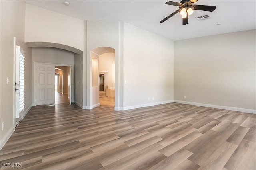
[[[256,115],[178,103],[35,106],[0,159],[15,170],[255,170]]]

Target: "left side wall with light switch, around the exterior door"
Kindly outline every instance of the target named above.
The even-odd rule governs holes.
[[[14,131],[14,37],[25,52],[25,108],[31,107],[31,49],[24,43],[25,3],[23,1],[0,1],[1,16],[1,107],[0,107],[0,148]],[[7,84],[10,78],[10,84]],[[2,130],[2,123],[4,129]]]

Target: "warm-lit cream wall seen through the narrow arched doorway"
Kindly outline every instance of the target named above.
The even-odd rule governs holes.
[[[100,55],[100,71],[108,72],[108,88],[115,89],[115,53]]]

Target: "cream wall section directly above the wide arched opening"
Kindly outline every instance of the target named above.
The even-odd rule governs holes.
[[[26,4],[25,42],[50,42],[84,50],[84,21]]]

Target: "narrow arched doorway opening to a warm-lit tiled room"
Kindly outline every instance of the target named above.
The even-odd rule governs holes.
[[[115,49],[98,47],[90,51],[92,61],[91,106],[115,105]]]

